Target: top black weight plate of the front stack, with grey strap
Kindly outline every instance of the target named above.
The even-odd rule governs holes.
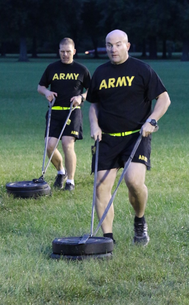
[[[108,237],[89,237],[84,244],[78,244],[81,237],[56,238],[52,242],[52,252],[63,255],[105,254],[113,250],[113,240]]]

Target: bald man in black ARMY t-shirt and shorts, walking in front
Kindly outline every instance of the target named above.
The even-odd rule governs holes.
[[[99,219],[111,198],[117,171],[124,167],[137,138],[142,134],[142,140],[124,178],[135,213],[133,242],[145,246],[149,242],[144,218],[148,198],[145,173],[151,167],[152,132],[168,109],[170,99],[155,71],[141,60],[130,57],[129,48],[125,32],[113,30],[106,36],[110,61],[95,70],[86,99],[91,102],[91,137],[95,141],[98,137],[99,141],[95,202]],[[152,110],[153,99],[156,99],[156,103]],[[95,154],[92,158],[92,172],[94,165]],[[112,204],[101,225],[104,236],[112,239],[113,218]]]

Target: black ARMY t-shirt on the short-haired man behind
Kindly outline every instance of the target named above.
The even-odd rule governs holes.
[[[70,99],[88,89],[91,76],[87,68],[73,61],[70,64],[62,63],[61,60],[51,63],[46,68],[39,82],[46,88],[51,86],[51,91],[58,94],[54,106],[70,106]]]

